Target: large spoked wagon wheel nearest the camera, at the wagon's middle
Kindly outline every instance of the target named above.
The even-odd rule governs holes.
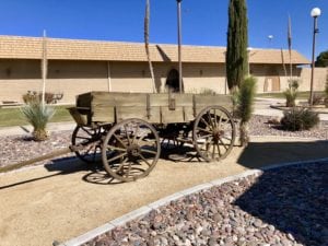
[[[127,119],[115,125],[102,148],[105,169],[121,181],[147,176],[154,168],[160,153],[156,130],[141,119]]]

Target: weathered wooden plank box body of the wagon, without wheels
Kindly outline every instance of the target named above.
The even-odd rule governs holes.
[[[188,122],[201,109],[220,105],[232,109],[230,95],[89,92],[77,97],[77,107],[90,108],[89,124],[139,118],[151,124]]]

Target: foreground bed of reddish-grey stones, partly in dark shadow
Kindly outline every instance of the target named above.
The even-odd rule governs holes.
[[[83,246],[327,246],[327,176],[328,162],[248,176],[172,201]]]

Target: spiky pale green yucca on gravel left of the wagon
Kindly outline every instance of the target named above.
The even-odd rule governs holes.
[[[44,105],[39,101],[35,101],[21,107],[21,112],[25,119],[33,126],[33,139],[35,141],[46,140],[48,138],[46,127],[54,116],[55,109]]]

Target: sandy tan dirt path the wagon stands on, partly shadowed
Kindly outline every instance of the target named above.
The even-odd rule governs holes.
[[[328,157],[327,149],[323,141],[259,138],[221,163],[161,159],[150,176],[128,184],[106,184],[104,173],[79,162],[0,175],[0,244],[65,242],[178,190],[267,164]]]

